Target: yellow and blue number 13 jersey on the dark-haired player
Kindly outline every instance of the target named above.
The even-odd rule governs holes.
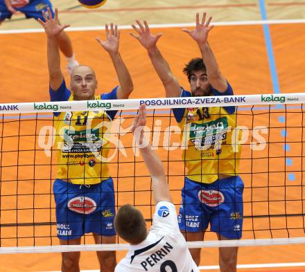
[[[214,96],[233,95],[229,83],[225,93],[211,91]],[[182,89],[182,97],[190,96],[189,91]],[[173,109],[173,113],[183,132],[182,156],[189,179],[213,183],[218,175],[238,175],[241,133],[235,129],[235,107]]]

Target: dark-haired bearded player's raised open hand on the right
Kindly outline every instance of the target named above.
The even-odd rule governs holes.
[[[189,35],[195,40],[195,42],[198,43],[199,46],[204,46],[207,43],[209,32],[214,27],[214,26],[209,26],[212,17],[209,17],[209,19],[207,19],[207,22],[205,22],[206,17],[207,17],[207,12],[204,12],[200,23],[199,13],[196,13],[195,29],[194,30],[189,30],[187,28],[182,29],[182,31],[189,33]]]

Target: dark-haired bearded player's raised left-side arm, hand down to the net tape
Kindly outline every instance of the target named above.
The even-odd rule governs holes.
[[[157,48],[157,41],[159,37],[162,36],[162,34],[159,33],[156,36],[153,36],[150,33],[147,21],[143,21],[144,26],[141,21],[136,21],[139,28],[134,25],[132,25],[132,28],[137,32],[139,36],[136,36],[133,33],[130,33],[130,35],[136,38],[140,42],[140,44],[147,49],[148,55],[150,57],[151,62],[153,63],[155,71],[159,75],[159,78],[162,81],[162,84],[164,85],[166,97],[171,98],[180,96],[180,84],[177,78],[173,76],[170,66]]]

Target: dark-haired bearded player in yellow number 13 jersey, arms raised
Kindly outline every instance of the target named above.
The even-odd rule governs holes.
[[[202,58],[186,64],[184,73],[191,91],[180,87],[156,44],[162,34],[153,36],[146,21],[132,26],[133,35],[144,46],[164,84],[166,97],[232,96],[233,90],[218,68],[207,42],[211,17],[206,21],[196,15],[194,30],[183,29],[198,44]],[[173,109],[177,123],[188,134],[183,160],[187,174],[182,189],[178,222],[187,241],[200,241],[208,225],[218,239],[240,239],[243,226],[243,181],[238,176],[241,147],[236,128],[235,107]],[[234,133],[235,132],[235,133]],[[200,263],[200,248],[191,249],[195,263]],[[236,271],[238,248],[220,248],[220,271]]]

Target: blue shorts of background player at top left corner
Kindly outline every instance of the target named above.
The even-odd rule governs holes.
[[[26,18],[35,18],[36,20],[40,18],[42,21],[44,21],[42,10],[46,11],[46,8],[48,7],[51,9],[52,17],[54,17],[52,4],[49,0],[32,0],[26,6],[15,8],[15,10],[24,13]],[[12,12],[6,8],[6,3],[4,3],[4,0],[0,0],[0,21],[10,19],[10,17],[12,17]]]

